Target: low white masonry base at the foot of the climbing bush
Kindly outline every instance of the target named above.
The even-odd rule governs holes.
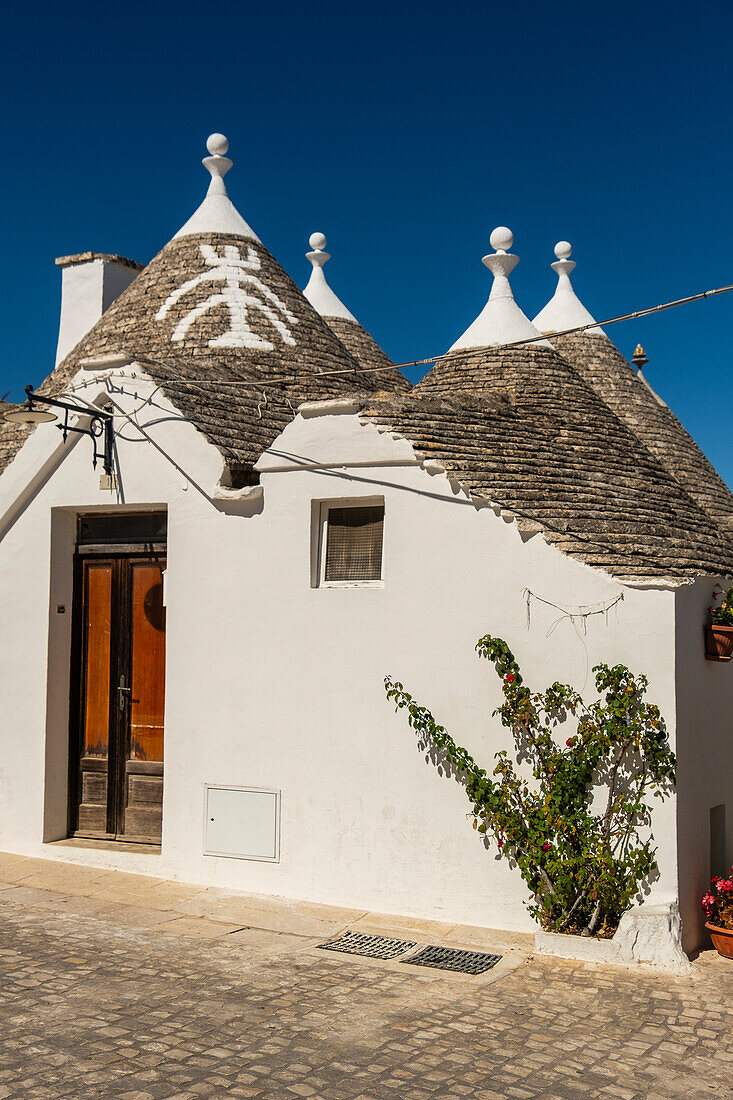
[[[690,960],[681,943],[682,925],[676,901],[631,909],[622,916],[613,939],[565,936],[556,932],[535,933],[535,952],[538,955],[615,966],[653,966],[674,974],[690,969]]]

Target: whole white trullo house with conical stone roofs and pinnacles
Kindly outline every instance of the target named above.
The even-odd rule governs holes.
[[[733,854],[733,674],[702,645],[731,493],[593,326],[569,245],[532,323],[495,230],[484,309],[412,387],[322,234],[302,292],[228,197],[226,139],[208,150],[146,266],[57,261],[56,366],[0,427],[0,847],[533,931],[384,694],[398,676],[490,763],[490,631],[537,686],[649,678],[678,785],[639,913],[679,906],[693,948]]]

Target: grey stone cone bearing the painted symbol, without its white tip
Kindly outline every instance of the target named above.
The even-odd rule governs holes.
[[[59,364],[56,378],[112,352],[226,363],[258,382],[358,365],[263,244],[221,232],[166,244]]]

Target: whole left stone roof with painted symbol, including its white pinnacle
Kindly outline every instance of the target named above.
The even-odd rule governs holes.
[[[360,362],[229,199],[226,138],[212,134],[207,145],[211,183],[201,205],[40,388],[61,392],[85,361],[136,362],[241,469],[269,440],[262,392],[231,383],[266,384],[269,415],[278,393],[292,415],[297,400],[409,384],[396,370],[393,377],[359,373]],[[0,425],[0,470],[29,435]]]

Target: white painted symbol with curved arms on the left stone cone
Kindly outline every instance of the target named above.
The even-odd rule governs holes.
[[[204,283],[223,283],[221,289],[209,295],[206,301],[199,302],[176,324],[171,340],[180,341],[185,338],[188,329],[199,317],[215,309],[217,306],[226,306],[229,310],[229,329],[221,336],[209,340],[209,348],[260,348],[270,351],[274,346],[270,340],[253,332],[248,323],[248,314],[251,309],[258,309],[263,314],[280,337],[283,343],[295,344],[288,324],[297,324],[297,317],[294,317],[287,306],[280,300],[276,294],[262,283],[253,273],[260,271],[261,262],[254,249],[248,248],[247,258],[242,260],[236,244],[226,244],[223,254],[219,254],[210,244],[200,245],[201,255],[209,266],[208,271],[189,278],[177,290],[168,295],[157,314],[156,320],[162,320],[168,310],[183,298],[185,294]],[[255,295],[260,295],[256,297]],[[285,323],[287,322],[287,323]]]

